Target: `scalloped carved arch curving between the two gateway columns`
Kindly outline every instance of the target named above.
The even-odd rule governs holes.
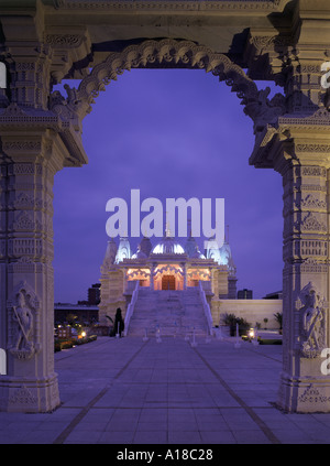
[[[237,93],[244,106],[244,112],[255,123],[255,131],[267,123],[275,122],[286,110],[285,97],[276,94],[272,100],[267,98],[271,89],[258,90],[255,83],[244,71],[233,63],[227,55],[213,53],[210,48],[197,45],[190,41],[165,39],[148,40],[139,45],[130,45],[122,52],[111,53],[102,63],[96,65],[86,76],[78,89],[65,85],[67,98],[59,93],[52,94],[51,108],[79,121],[91,111],[91,105],[100,91],[111,80],[132,68],[176,67],[205,69],[212,73],[220,82],[226,82],[231,90]],[[68,115],[69,113],[69,115]]]

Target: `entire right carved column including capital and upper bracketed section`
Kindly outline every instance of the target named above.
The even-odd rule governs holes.
[[[309,20],[311,8],[324,14],[326,7],[297,2],[299,31],[273,37],[252,32],[254,52],[249,52],[250,76],[268,75],[285,97],[274,119],[249,104],[245,112],[256,136],[250,163],[283,176],[284,345],[277,403],[290,412],[330,412],[330,377],[321,370],[322,349],[330,346],[330,112],[321,86],[329,39]]]

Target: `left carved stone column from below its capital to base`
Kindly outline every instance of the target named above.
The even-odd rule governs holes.
[[[53,181],[63,165],[48,131],[1,134],[0,411],[59,404],[54,373]]]

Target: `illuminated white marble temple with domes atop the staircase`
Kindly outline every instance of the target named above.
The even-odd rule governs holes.
[[[202,253],[191,235],[182,245],[166,229],[155,246],[143,237],[138,250],[132,252],[129,238],[120,238],[119,245],[110,239],[101,265],[100,323],[106,324],[106,315],[114,315],[117,307],[121,307],[123,315],[127,313],[136,283],[140,296],[150,297],[150,307],[161,307],[166,295],[162,291],[172,291],[182,307],[189,293],[193,302],[200,302],[197,292],[202,289],[211,313],[218,315],[220,300],[237,297],[235,274],[228,241],[219,248],[215,239],[209,239]],[[152,296],[157,296],[157,302]]]

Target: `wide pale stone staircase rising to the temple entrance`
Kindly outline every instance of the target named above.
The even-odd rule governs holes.
[[[141,288],[134,307],[128,335],[185,336],[187,333],[206,335],[207,319],[198,288],[185,291],[153,291]]]

